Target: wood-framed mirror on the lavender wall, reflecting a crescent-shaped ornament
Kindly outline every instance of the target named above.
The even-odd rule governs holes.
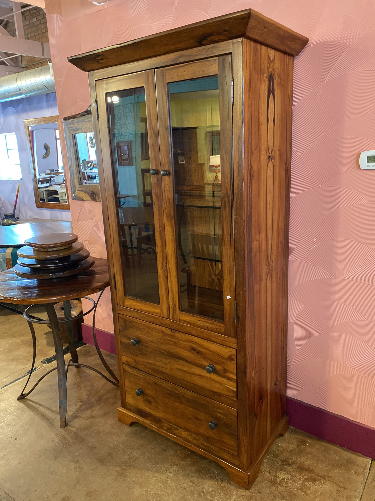
[[[36,207],[69,210],[58,115],[31,118],[23,123]]]

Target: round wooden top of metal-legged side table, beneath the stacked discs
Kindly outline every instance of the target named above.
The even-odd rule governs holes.
[[[89,296],[108,286],[106,259],[95,258],[88,271],[63,279],[22,279],[11,268],[0,273],[0,301],[21,305],[58,303]]]

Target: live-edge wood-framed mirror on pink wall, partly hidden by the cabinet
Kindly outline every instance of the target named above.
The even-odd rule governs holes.
[[[73,200],[100,202],[91,110],[63,119]]]

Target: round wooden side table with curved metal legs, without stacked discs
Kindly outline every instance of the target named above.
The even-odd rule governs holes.
[[[114,386],[118,385],[118,379],[110,369],[108,364],[105,362],[105,359],[99,349],[99,346],[96,341],[95,336],[95,313],[97,303],[103,293],[104,289],[109,286],[109,278],[108,278],[108,267],[105,259],[95,259],[95,263],[92,268],[88,271],[80,273],[78,275],[74,275],[72,277],[67,277],[63,279],[53,279],[53,280],[28,280],[17,277],[13,273],[13,269],[6,270],[0,273],[0,301],[3,303],[12,303],[17,304],[21,310],[23,311],[23,316],[27,320],[31,336],[32,336],[32,344],[33,344],[33,359],[30,374],[24,385],[23,390],[18,396],[17,400],[21,400],[27,395],[31,393],[31,391],[39,384],[39,382],[50,372],[57,370],[57,379],[58,379],[58,409],[60,414],[60,428],[64,428],[66,424],[66,375],[67,370],[70,365],[75,367],[86,367],[87,369],[91,369],[104,379],[106,379],[109,383]],[[99,297],[96,301],[92,298],[88,298],[91,294],[95,294],[100,292]],[[108,374],[112,377],[112,380],[107,378],[104,374],[102,374],[97,369],[90,367],[88,365],[78,363],[78,354],[75,348],[75,343],[73,339],[73,328],[72,328],[72,320],[79,318],[80,316],[71,318],[70,314],[70,300],[76,298],[85,298],[90,300],[93,303],[92,308],[83,313],[81,316],[87,315],[88,313],[93,311],[92,318],[92,332],[95,343],[95,348],[97,354],[105,367]],[[71,359],[65,364],[62,341],[61,341],[61,333],[58,325],[58,320],[56,316],[56,312],[53,308],[55,303],[59,303],[63,301],[64,303],[64,322],[66,322],[66,337],[68,341],[68,347],[71,355]],[[28,310],[33,305],[42,305],[45,308],[45,311],[48,315],[48,320],[41,321],[31,319],[28,315]],[[61,321],[61,320],[60,320]],[[49,323],[52,330],[52,337],[54,343],[54,349],[56,353],[56,364],[57,367],[46,372],[38,381],[34,384],[34,386],[27,392],[24,393],[26,389],[27,383],[32,374],[32,370],[35,364],[35,356],[36,356],[36,337],[32,323],[37,324],[47,324]]]

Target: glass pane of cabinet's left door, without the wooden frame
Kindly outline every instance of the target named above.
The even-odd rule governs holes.
[[[144,87],[105,97],[126,295],[160,304]]]

